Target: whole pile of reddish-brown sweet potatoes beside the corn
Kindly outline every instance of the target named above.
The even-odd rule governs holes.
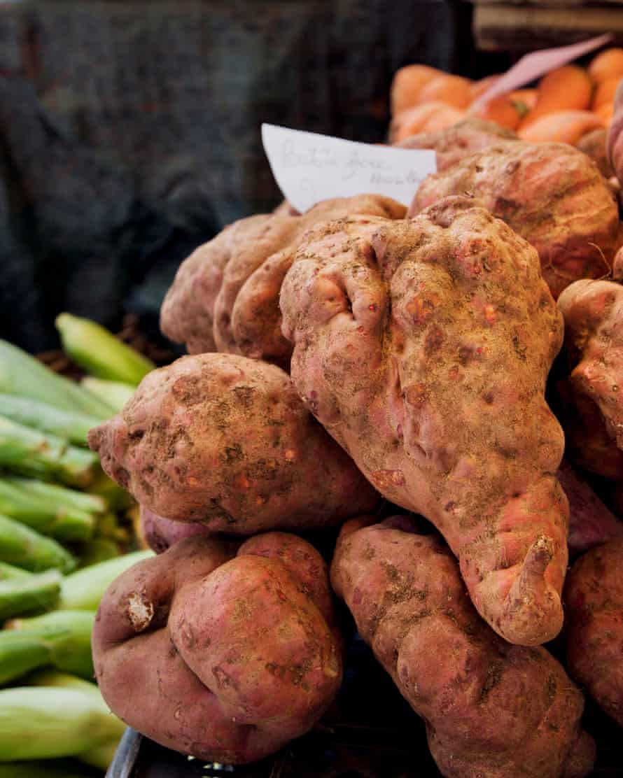
[[[408,216],[283,205],[181,266],[162,327],[192,355],[90,433],[159,553],[93,636],[150,738],[276,752],[332,705],[353,623],[443,776],[586,776],[583,694],[623,723],[617,206],[583,152],[496,132],[415,141],[445,163]]]

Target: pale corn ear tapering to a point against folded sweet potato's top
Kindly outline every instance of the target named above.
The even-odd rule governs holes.
[[[117,559],[109,559],[107,562],[99,562],[97,565],[85,567],[70,576],[65,576],[62,580],[58,608],[79,611],[97,610],[104,592],[115,578],[153,555],[153,551],[136,551],[118,556]]]

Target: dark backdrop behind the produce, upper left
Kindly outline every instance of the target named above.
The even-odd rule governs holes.
[[[157,329],[179,263],[280,194],[262,121],[378,142],[418,61],[477,77],[454,0],[0,4],[0,337],[69,310]]]

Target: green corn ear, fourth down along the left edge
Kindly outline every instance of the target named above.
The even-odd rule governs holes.
[[[0,478],[0,513],[62,541],[87,540],[93,535],[96,524],[93,513],[67,504],[62,506],[60,500],[55,503],[49,497],[37,496],[23,489],[20,480]],[[42,485],[50,489],[62,489],[51,484]],[[54,497],[54,493],[51,496]]]

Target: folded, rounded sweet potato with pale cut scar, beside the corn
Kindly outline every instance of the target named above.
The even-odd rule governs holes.
[[[322,558],[294,535],[179,541],[111,585],[93,629],[104,699],[167,748],[252,762],[311,729],[342,675]]]

